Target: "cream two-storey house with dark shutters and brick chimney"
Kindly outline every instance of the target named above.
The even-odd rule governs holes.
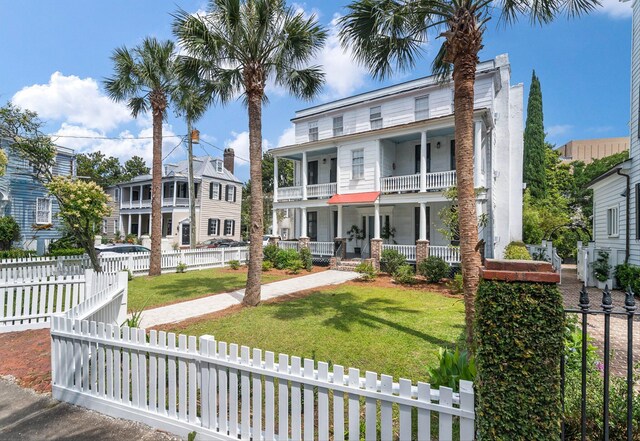
[[[196,190],[196,241],[213,238],[240,239],[242,184],[233,175],[234,152],[226,149],[224,161],[209,156],[194,157]],[[151,175],[107,188],[112,214],[103,220],[102,233],[115,235],[151,234]],[[162,237],[189,245],[188,162],[164,166],[162,176]]]

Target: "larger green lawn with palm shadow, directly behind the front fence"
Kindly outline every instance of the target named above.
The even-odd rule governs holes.
[[[463,323],[461,299],[352,283],[170,331],[426,381],[438,347],[463,341]]]

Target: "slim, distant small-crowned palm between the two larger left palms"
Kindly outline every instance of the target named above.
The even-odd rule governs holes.
[[[179,69],[180,70],[180,69]],[[188,79],[179,79],[179,84],[174,90],[173,106],[176,112],[184,116],[187,122],[187,161],[189,163],[189,247],[196,246],[196,191],[193,182],[193,123],[202,118],[213,102],[213,94],[206,90],[202,84],[192,83]],[[203,189],[200,188],[200,193]]]

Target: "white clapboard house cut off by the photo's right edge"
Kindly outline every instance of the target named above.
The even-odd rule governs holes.
[[[625,0],[627,1],[627,0]],[[628,262],[640,265],[640,2],[633,2],[631,40],[631,117],[629,160],[591,182],[593,189],[593,243],[587,264],[598,253],[609,253],[612,269]],[[579,263],[583,250],[579,252]],[[583,268],[579,268],[582,277]],[[588,283],[594,283],[587,268]]]

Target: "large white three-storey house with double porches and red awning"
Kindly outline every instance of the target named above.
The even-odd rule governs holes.
[[[479,232],[487,257],[522,235],[523,87],[510,76],[507,55],[478,65],[475,187],[489,219]],[[419,78],[298,111],[292,122],[296,143],[270,150],[294,162],[295,182],[275,189],[274,211],[284,215],[274,215],[273,234],[332,242],[357,225],[379,239],[388,226],[391,243],[451,245],[438,212],[456,185],[452,82]]]

